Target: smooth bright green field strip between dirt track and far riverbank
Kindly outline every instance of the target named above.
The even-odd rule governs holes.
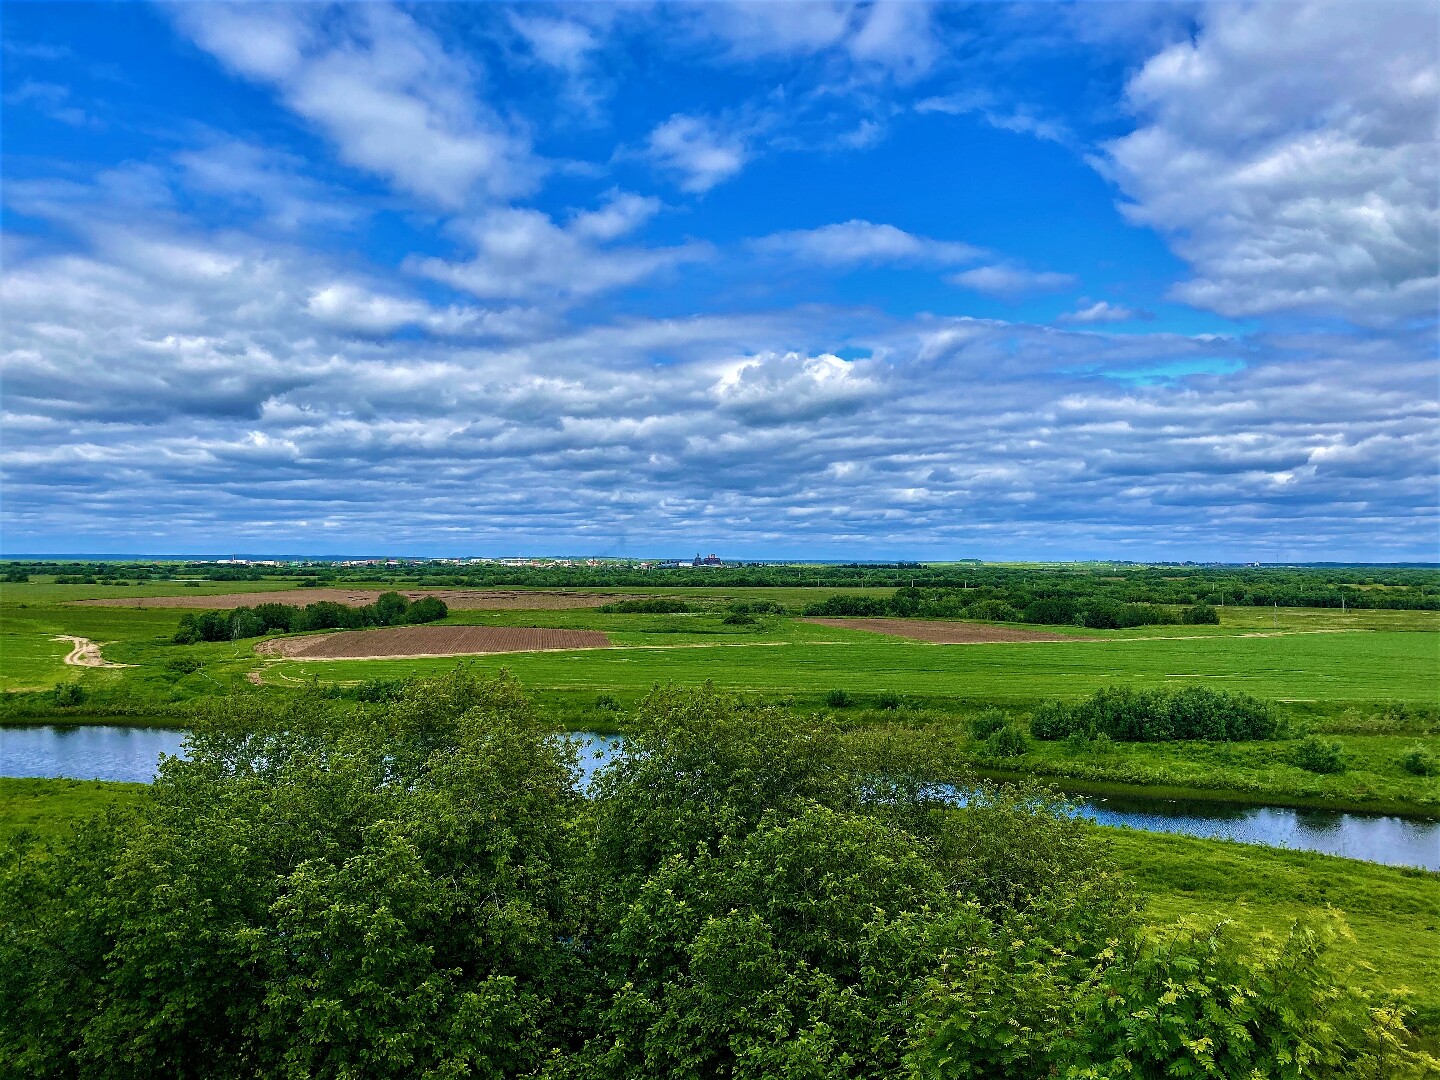
[[[694,641],[636,647],[612,635],[616,647],[600,652],[514,654],[475,662],[508,667],[537,690],[595,693],[708,680],[766,693],[890,688],[1015,704],[1083,697],[1104,685],[1176,687],[1188,680],[1282,700],[1433,703],[1440,677],[1437,639],[1430,634],[1113,636],[948,648],[829,626],[806,626],[825,641],[796,639],[788,632],[795,625],[805,624],[782,622],[769,634],[713,639],[710,647]],[[449,662],[351,661],[327,665],[324,677],[396,678],[433,674]],[[308,674],[300,660],[275,668],[281,680]]]

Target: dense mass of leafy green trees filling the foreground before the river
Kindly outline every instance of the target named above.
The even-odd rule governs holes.
[[[216,704],[0,852],[0,1071],[1420,1076],[1325,929],[1159,942],[1093,828],[929,737],[657,690],[589,788],[513,681]],[[969,786],[969,785],[968,785]]]

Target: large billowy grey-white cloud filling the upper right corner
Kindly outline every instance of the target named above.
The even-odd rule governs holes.
[[[1129,84],[1126,215],[1225,315],[1434,315],[1440,43],[1420,3],[1214,4]]]

